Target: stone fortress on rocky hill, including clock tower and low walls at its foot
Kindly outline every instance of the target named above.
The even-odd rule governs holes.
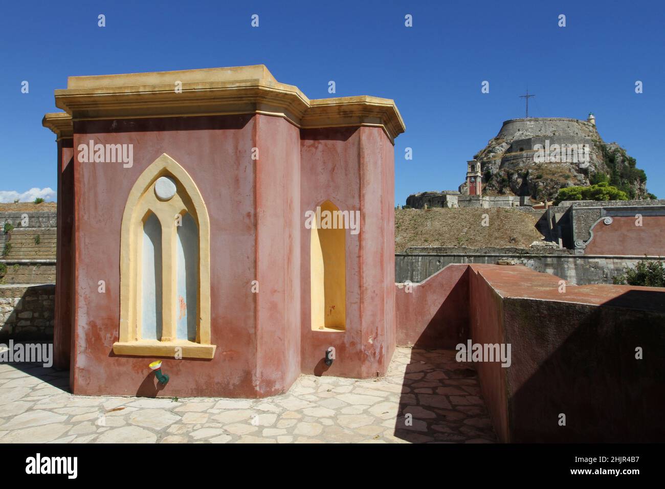
[[[600,175],[614,173],[626,182],[630,198],[648,196],[644,172],[634,168],[634,160],[618,144],[602,140],[593,113],[587,120],[509,119],[467,162],[467,178],[458,191],[412,194],[406,205],[416,209],[545,208],[560,188],[589,186]]]

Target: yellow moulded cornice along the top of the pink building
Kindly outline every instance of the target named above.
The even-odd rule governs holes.
[[[393,100],[309,100],[263,65],[70,77],[68,88],[55,90],[55,100],[76,120],[255,113],[281,116],[301,128],[380,126],[390,140],[405,130]]]

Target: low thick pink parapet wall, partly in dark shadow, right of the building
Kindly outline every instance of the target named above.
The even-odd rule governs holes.
[[[510,367],[474,364],[503,442],[662,440],[665,291],[562,282],[522,265],[448,265],[413,293],[396,284],[398,343],[511,344]],[[467,325],[451,315],[464,294]]]

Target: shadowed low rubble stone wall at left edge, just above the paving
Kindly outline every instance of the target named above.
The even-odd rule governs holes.
[[[53,338],[55,284],[0,285],[0,341]]]

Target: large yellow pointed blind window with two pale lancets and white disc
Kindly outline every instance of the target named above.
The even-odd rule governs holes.
[[[209,243],[199,189],[162,154],[134,183],[122,215],[116,355],[214,356]]]

